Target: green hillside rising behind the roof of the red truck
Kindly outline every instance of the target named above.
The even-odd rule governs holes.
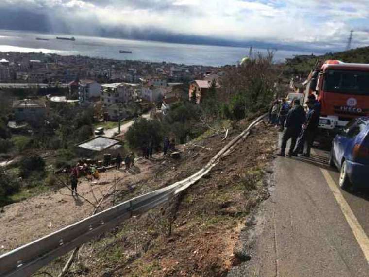
[[[356,48],[349,51],[327,53],[314,58],[300,58],[287,60],[285,63],[288,74],[308,74],[314,67],[317,59],[319,60],[340,60],[347,63],[369,63],[369,46]]]

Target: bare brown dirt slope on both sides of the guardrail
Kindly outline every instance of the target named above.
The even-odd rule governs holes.
[[[122,178],[117,202],[182,180],[246,127],[247,122],[239,124],[226,141],[217,136],[195,142],[207,149],[182,145],[178,161],[157,155],[138,161],[135,173],[103,173],[101,182],[110,184],[94,184],[94,194],[100,199],[114,178]],[[85,244],[69,276],[224,276],[233,265],[248,259],[237,241],[250,210],[268,198],[264,169],[273,158],[275,133],[260,124],[211,173],[171,203]],[[90,185],[83,181],[79,192],[95,202]],[[90,215],[93,207],[75,201],[69,193],[61,189],[5,207],[0,214],[3,252]],[[103,208],[112,206],[112,198]],[[57,259],[43,270],[56,276],[66,259]]]

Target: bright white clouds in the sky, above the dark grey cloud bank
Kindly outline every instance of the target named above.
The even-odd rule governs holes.
[[[343,44],[353,20],[369,23],[368,0],[3,0],[0,5],[49,7],[68,24],[78,24],[73,16],[78,15],[103,26],[272,42]],[[64,10],[69,14],[61,14]],[[357,38],[369,43],[366,32]]]

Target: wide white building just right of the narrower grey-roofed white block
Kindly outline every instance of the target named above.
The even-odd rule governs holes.
[[[133,99],[138,84],[113,83],[101,85],[100,100],[104,107],[116,103],[126,103]]]

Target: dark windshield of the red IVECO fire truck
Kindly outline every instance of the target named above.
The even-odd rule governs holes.
[[[324,91],[369,95],[369,72],[328,70]]]

